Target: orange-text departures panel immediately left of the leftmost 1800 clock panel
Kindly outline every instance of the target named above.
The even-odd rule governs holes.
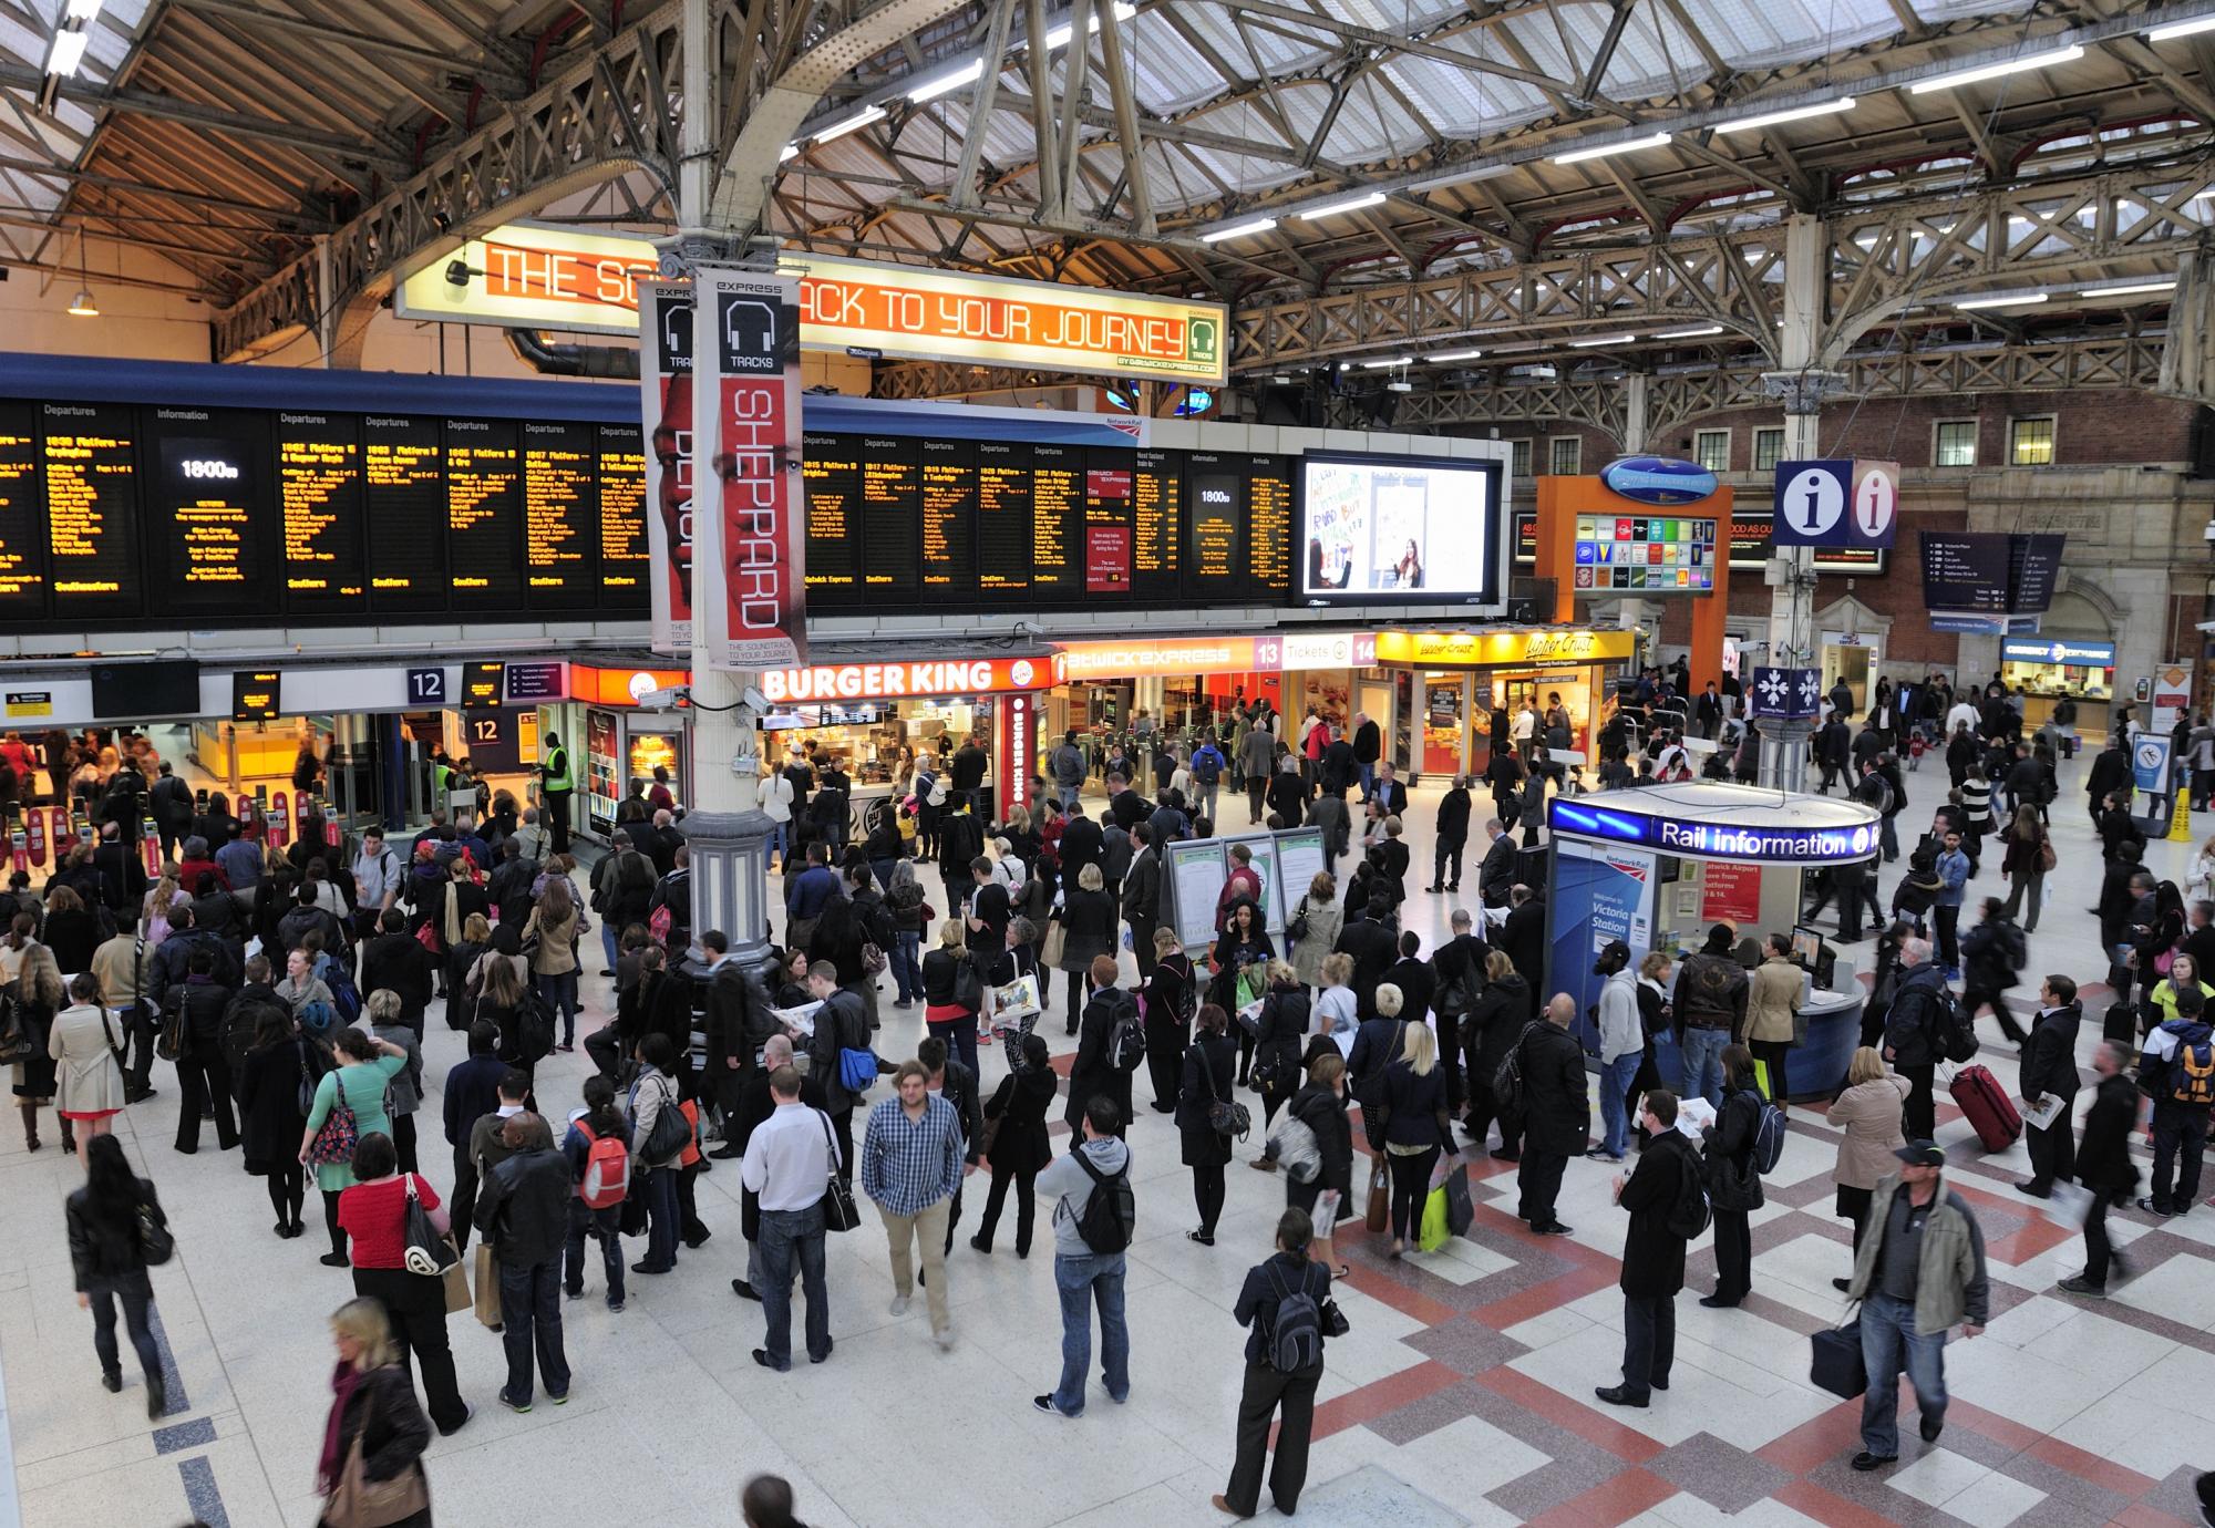
[[[47,551],[53,616],[137,611],[137,412],[117,403],[42,403]]]

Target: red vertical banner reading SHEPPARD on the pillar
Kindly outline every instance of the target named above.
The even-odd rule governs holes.
[[[700,266],[693,275],[693,516],[698,618],[715,669],[806,662],[806,525],[800,492],[800,281]]]

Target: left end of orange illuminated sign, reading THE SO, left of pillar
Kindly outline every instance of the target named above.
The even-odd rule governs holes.
[[[447,323],[636,334],[638,283],[653,275],[660,275],[660,257],[647,239],[503,224],[401,281],[392,312]]]

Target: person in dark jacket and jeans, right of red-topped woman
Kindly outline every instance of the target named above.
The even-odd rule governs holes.
[[[476,1229],[501,1264],[501,1346],[507,1384],[501,1404],[532,1408],[532,1355],[547,1400],[569,1400],[569,1360],[560,1342],[560,1253],[569,1238],[569,1160],[536,1114],[501,1127],[507,1160],[485,1171],[476,1196]]]

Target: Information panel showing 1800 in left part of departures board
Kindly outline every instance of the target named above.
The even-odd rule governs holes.
[[[222,410],[153,410],[148,483],[153,576],[162,605],[239,609],[270,587],[272,531],[266,432]]]

